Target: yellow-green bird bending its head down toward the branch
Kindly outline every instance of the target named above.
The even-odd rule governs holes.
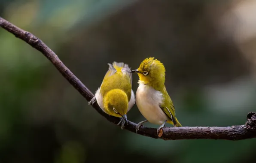
[[[135,103],[134,92],[131,89],[131,69],[128,64],[122,62],[108,63],[108,65],[109,70],[104,76],[101,87],[98,88],[89,105],[97,101],[105,113],[121,117],[119,124],[122,124],[121,128],[123,128],[125,122],[128,124],[126,114]]]

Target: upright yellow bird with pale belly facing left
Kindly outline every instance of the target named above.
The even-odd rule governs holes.
[[[165,127],[165,123],[182,127],[175,115],[173,102],[165,88],[165,66],[154,57],[148,57],[140,63],[136,72],[139,75],[139,87],[136,92],[136,104],[146,121],[141,121],[140,126],[149,121],[152,124],[161,125],[157,133]]]

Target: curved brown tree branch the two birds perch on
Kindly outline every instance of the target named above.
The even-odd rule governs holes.
[[[58,71],[76,88],[79,93],[90,101],[94,94],[82,84],[82,82],[61,62],[58,56],[39,38],[33,34],[22,30],[9,21],[0,17],[0,26],[14,34],[16,37],[24,40],[33,48],[43,53],[45,57],[52,62]],[[107,118],[108,121],[118,124],[120,118],[116,118],[104,113],[97,103],[93,105],[94,109]],[[136,124],[128,121],[125,126],[126,130],[136,133]],[[159,138],[155,128],[141,127],[138,134],[149,136],[152,138]],[[165,127],[163,134],[160,137],[164,140],[180,140],[180,139],[226,139],[226,140],[242,140],[256,137],[256,113],[250,112],[247,115],[247,122],[245,125],[232,126],[232,127]]]

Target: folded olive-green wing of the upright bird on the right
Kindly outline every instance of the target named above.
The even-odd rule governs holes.
[[[171,119],[171,121],[173,121],[174,125],[177,124],[176,121],[176,117],[175,117],[175,108],[174,108],[174,104],[170,98],[170,96],[168,95],[166,88],[163,89],[162,91],[164,100],[162,105],[160,105],[160,108],[162,109],[162,111],[165,112],[165,114],[168,116],[168,118]]]

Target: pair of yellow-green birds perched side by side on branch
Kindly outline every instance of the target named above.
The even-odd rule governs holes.
[[[154,57],[148,57],[140,63],[138,69],[132,70],[127,64],[109,63],[101,87],[95,93],[89,104],[97,101],[100,108],[115,117],[120,117],[124,127],[127,121],[127,112],[135,103],[134,92],[131,89],[132,75],[139,75],[139,87],[136,92],[136,104],[146,121],[141,121],[136,126],[136,132],[140,126],[149,121],[152,124],[161,125],[157,133],[165,127],[165,123],[181,127],[175,115],[173,102],[165,88],[165,66]]]

